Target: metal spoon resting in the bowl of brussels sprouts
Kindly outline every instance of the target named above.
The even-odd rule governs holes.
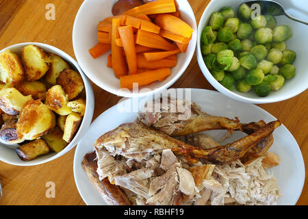
[[[261,13],[262,14],[270,14],[272,16],[279,16],[279,15],[285,15],[288,18],[290,18],[293,21],[297,21],[300,23],[303,23],[305,25],[308,25],[307,22],[301,21],[298,18],[294,18],[294,16],[291,16],[290,14],[287,14],[281,4],[277,3],[276,1],[271,1],[271,0],[264,0],[264,1],[246,1],[244,2],[247,5],[251,6],[255,3],[259,4],[261,7]]]

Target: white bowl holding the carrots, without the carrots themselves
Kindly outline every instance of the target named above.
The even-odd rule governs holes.
[[[108,52],[97,59],[93,59],[88,52],[91,47],[97,44],[97,24],[107,16],[112,16],[112,5],[114,5],[114,1],[111,0],[86,0],[79,8],[73,27],[73,47],[79,66],[84,70],[84,73],[97,86],[118,96],[145,96],[172,86],[190,64],[196,48],[196,19],[188,1],[177,0],[181,18],[194,29],[186,53],[177,55],[177,66],[172,68],[172,73],[167,79],[151,83],[149,86],[142,86],[138,92],[120,90],[120,80],[114,77],[112,68],[106,66]]]

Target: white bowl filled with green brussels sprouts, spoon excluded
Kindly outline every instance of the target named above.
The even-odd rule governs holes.
[[[212,0],[203,12],[196,56],[207,81],[246,103],[274,103],[305,91],[308,27],[242,3]]]

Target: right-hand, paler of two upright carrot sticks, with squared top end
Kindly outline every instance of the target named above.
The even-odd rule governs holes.
[[[133,28],[131,26],[118,27],[118,33],[123,44],[125,51],[127,64],[129,68],[129,74],[137,73],[137,57],[135,39],[133,37]]]

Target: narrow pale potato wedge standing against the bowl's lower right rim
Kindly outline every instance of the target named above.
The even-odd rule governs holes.
[[[81,123],[81,120],[82,117],[75,112],[72,112],[67,116],[64,126],[64,135],[63,135],[64,141],[69,143],[71,140],[73,140],[75,133],[77,132],[79,125]]]

